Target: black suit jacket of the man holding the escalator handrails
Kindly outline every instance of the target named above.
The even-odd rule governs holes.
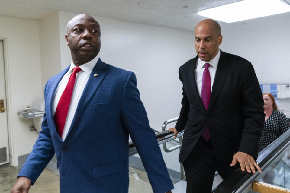
[[[183,131],[179,161],[192,151],[206,125],[218,162],[241,151],[258,156],[264,128],[263,98],[253,65],[239,56],[221,52],[208,111],[198,94],[194,71],[198,56],[179,68],[183,98],[177,131]]]

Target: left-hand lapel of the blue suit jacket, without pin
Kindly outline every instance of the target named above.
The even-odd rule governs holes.
[[[69,68],[70,68],[70,65],[50,80],[50,82],[52,82],[52,85],[51,85],[52,90],[49,90],[48,95],[47,95],[47,102],[48,102],[48,110],[46,111],[47,119],[50,122],[51,131],[55,135],[56,139],[61,141],[61,142],[62,142],[62,139],[60,138],[60,135],[56,132],[52,104],[53,104],[53,98],[54,98],[53,96],[54,96],[55,90],[56,90],[59,82],[63,78],[63,76],[69,70]]]

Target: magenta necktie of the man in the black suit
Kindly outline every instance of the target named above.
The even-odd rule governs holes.
[[[208,104],[211,100],[211,74],[208,71],[208,67],[210,67],[210,64],[205,63],[205,70],[202,74],[201,86],[201,100],[206,110],[208,110]],[[208,141],[211,138],[207,126],[205,127],[205,130],[202,132],[201,135],[205,139],[205,141]]]

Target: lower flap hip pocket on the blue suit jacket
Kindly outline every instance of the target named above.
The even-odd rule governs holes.
[[[105,165],[105,166],[97,166],[97,167],[93,167],[93,178],[117,174],[125,170],[126,170],[126,166],[124,162]]]

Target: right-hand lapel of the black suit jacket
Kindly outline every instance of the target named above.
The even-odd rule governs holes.
[[[230,65],[227,64],[228,60],[224,52],[221,51],[221,56],[218,61],[218,68],[214,78],[214,84],[212,85],[211,100],[209,101],[208,111],[210,110],[214,100],[218,96],[221,86],[224,84],[224,80],[227,77],[227,72]]]

